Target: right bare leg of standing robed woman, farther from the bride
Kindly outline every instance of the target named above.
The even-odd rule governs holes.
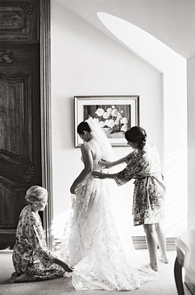
[[[161,257],[159,257],[158,259],[163,261],[164,263],[168,263],[169,260],[166,256],[166,236],[163,225],[161,223],[155,223],[155,230],[157,234],[158,245],[161,251]]]

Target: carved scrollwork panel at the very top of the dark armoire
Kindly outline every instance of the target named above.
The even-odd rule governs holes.
[[[4,1],[6,3],[6,1]],[[33,2],[33,1],[32,1]],[[19,6],[17,1],[12,6],[0,7],[0,35],[1,40],[37,39],[37,5],[23,2]],[[25,37],[25,35],[28,35]]]

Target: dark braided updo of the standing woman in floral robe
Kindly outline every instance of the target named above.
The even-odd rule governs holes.
[[[137,142],[140,149],[144,148],[147,139],[147,133],[142,127],[134,126],[125,132],[125,138],[129,142]]]

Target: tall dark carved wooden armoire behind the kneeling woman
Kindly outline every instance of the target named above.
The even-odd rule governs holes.
[[[44,0],[0,1],[0,249],[15,244],[27,189],[51,194],[49,8]],[[51,249],[50,205],[51,196],[40,216]]]

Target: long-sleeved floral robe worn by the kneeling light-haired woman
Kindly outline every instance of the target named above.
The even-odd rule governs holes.
[[[12,260],[17,273],[27,273],[35,280],[63,276],[64,268],[53,263],[56,256],[46,245],[39,214],[30,206],[20,213]]]

